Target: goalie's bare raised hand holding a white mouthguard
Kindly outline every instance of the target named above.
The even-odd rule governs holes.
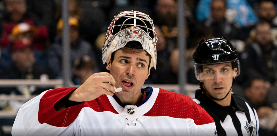
[[[84,84],[71,93],[68,99],[83,102],[94,100],[103,94],[113,96],[115,93],[114,85],[115,80],[111,74],[106,72],[94,73]]]

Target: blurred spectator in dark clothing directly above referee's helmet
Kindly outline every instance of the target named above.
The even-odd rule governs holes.
[[[211,15],[203,23],[206,27],[211,27],[215,37],[226,37],[228,39],[243,40],[240,26],[234,21],[225,17],[227,2],[226,0],[212,0],[210,4]]]

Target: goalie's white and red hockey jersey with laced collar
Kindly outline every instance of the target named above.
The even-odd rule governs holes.
[[[148,95],[139,105],[123,105],[113,96],[102,95],[95,100],[56,111],[55,103],[75,89],[53,89],[29,100],[19,109],[12,135],[216,134],[212,117],[190,97],[158,88],[144,89]]]

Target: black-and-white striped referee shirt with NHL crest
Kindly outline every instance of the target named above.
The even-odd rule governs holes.
[[[223,107],[196,90],[193,99],[215,121],[215,136],[258,136],[259,119],[256,110],[241,96],[232,93],[231,105]]]

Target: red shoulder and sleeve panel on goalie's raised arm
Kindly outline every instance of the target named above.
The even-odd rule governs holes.
[[[77,118],[83,107],[90,107],[96,112],[111,111],[118,114],[106,95],[99,96],[92,101],[85,101],[79,105],[68,107],[62,111],[56,111],[54,108],[55,103],[75,89],[77,88],[58,88],[47,91],[39,102],[39,123],[47,123],[57,127],[67,127]]]

